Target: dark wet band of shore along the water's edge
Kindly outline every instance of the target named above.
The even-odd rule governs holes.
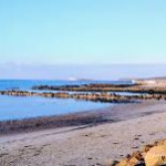
[[[137,118],[139,116],[158,113],[158,111],[151,110],[151,107],[158,103],[165,104],[166,102],[155,100],[137,101],[135,103],[121,103],[103,108],[69,113],[63,115],[1,121],[0,135],[69,126],[94,126],[104,123],[120,122],[128,118]],[[148,107],[148,111],[144,110],[144,107]],[[159,112],[164,112],[164,110]]]

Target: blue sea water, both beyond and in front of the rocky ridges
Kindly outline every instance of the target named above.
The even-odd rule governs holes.
[[[131,82],[1,80],[0,90],[20,89],[30,91],[34,85],[80,85],[89,83],[122,84]],[[0,96],[0,121],[75,113],[81,111],[97,110],[108,105],[114,104],[37,96]]]

